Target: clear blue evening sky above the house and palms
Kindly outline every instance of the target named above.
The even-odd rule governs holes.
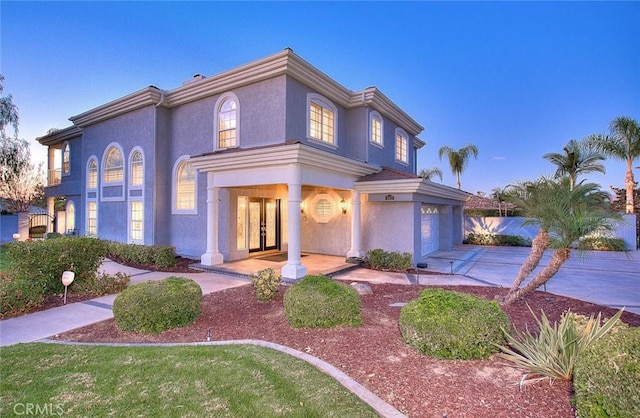
[[[418,168],[439,167],[444,184],[455,177],[438,149],[475,144],[471,193],[552,174],[543,154],[617,116],[640,120],[639,2],[2,1],[0,14],[4,94],[28,140],[285,47],[349,89],[375,85],[422,124]],[[588,179],[623,187],[624,164],[606,168]]]

